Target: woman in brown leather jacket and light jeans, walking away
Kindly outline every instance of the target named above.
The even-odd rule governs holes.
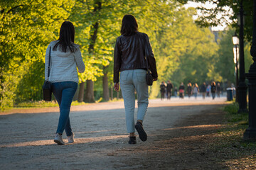
[[[146,54],[145,54],[146,53]],[[138,24],[134,16],[125,15],[122,19],[121,36],[117,38],[114,47],[114,90],[120,86],[124,98],[124,108],[129,133],[129,144],[136,144],[135,128],[139,138],[146,141],[147,135],[142,126],[144,115],[149,104],[149,87],[146,84],[146,57],[154,81],[157,80],[156,60],[151,49],[149,37],[138,31]],[[137,91],[138,113],[137,123],[134,125],[135,94]]]

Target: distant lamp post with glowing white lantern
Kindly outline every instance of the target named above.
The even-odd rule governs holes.
[[[239,39],[238,35],[233,35],[233,52],[234,52],[234,63],[235,63],[235,102],[238,102],[238,59],[239,59]]]

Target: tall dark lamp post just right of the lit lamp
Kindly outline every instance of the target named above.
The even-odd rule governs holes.
[[[239,110],[238,113],[247,112],[247,86],[245,84],[245,55],[244,55],[244,37],[243,37],[243,23],[244,23],[244,11],[242,6],[242,0],[240,1],[240,33],[239,33],[239,84],[238,84],[238,98],[239,98]]]

